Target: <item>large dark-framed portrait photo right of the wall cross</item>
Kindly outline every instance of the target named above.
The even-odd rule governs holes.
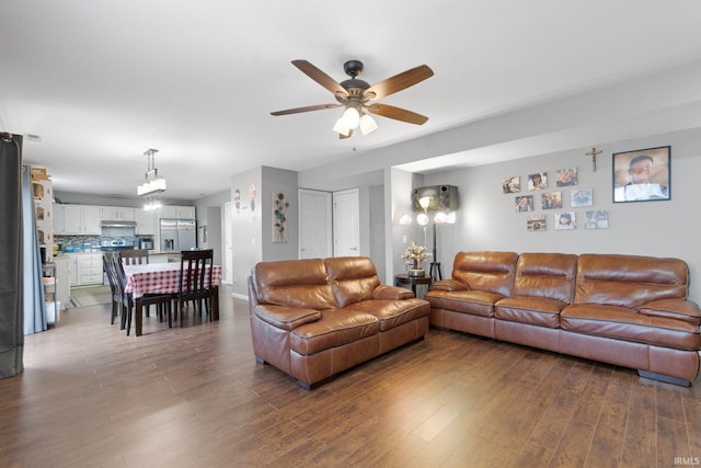
[[[613,153],[613,203],[670,199],[671,147]]]

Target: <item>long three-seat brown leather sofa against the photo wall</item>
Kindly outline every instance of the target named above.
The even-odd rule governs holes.
[[[690,385],[701,310],[678,259],[459,252],[430,285],[430,326],[637,369]]]

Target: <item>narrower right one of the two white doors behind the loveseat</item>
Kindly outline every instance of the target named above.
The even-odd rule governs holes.
[[[360,194],[357,189],[333,194],[333,255],[360,254]]]

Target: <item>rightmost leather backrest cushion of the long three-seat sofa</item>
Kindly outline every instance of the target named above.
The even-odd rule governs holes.
[[[574,300],[637,309],[653,300],[686,299],[688,284],[688,266],[678,259],[582,254]]]

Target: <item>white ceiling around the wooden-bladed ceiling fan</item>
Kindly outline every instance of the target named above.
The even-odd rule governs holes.
[[[195,199],[258,165],[301,171],[701,58],[697,0],[0,0],[0,130],[41,137],[25,139],[24,160],[47,167],[55,190],[123,197],[143,182],[148,148],[164,195]],[[354,58],[370,84],[432,67],[381,101],[429,121],[377,117],[377,132],[340,140],[341,110],[269,115],[335,102],[290,60],[342,81]]]

